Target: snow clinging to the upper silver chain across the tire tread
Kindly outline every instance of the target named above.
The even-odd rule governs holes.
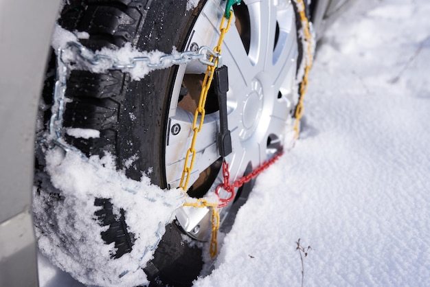
[[[159,63],[160,58],[166,56],[166,54],[158,50],[139,51],[131,43],[126,43],[120,49],[113,50],[104,47],[100,51],[90,51],[82,46],[82,56],[97,59],[97,63],[92,64],[79,56],[77,47],[70,45],[70,43],[79,43],[79,38],[87,37],[89,35],[85,32],[75,32],[73,34],[60,25],[56,25],[52,37],[52,47],[56,53],[58,53],[58,49],[63,50],[62,60],[66,63],[73,63],[73,65],[69,65],[69,69],[82,69],[93,73],[105,73],[109,69],[120,69],[124,73],[129,73],[132,80],[141,80],[150,71],[166,69],[173,65],[172,60],[165,60],[162,66],[150,66],[150,64]],[[174,56],[179,55],[176,47],[172,47],[171,54]],[[126,65],[134,65],[134,67],[122,67]]]

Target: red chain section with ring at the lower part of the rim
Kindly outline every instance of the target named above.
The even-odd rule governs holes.
[[[218,205],[218,208],[219,207],[225,207],[231,200],[233,200],[234,195],[235,195],[235,193],[234,193],[235,188],[241,187],[245,183],[251,181],[251,179],[258,176],[258,174],[262,173],[264,170],[269,168],[270,165],[272,165],[275,161],[277,161],[280,158],[280,156],[282,156],[282,154],[284,154],[283,150],[278,152],[278,154],[275,154],[275,156],[272,157],[271,159],[269,159],[269,161],[264,161],[264,163],[262,165],[260,165],[258,168],[253,170],[251,173],[243,176],[242,178],[238,179],[237,181],[234,181],[234,183],[232,183],[232,184],[230,184],[229,164],[226,161],[223,161],[224,182],[220,183],[216,187],[216,190],[215,190],[215,194],[216,194],[216,196],[218,196],[218,198],[221,202],[220,205]],[[221,187],[223,188],[223,190],[225,190],[226,192],[228,192],[230,194],[229,198],[221,198],[220,197],[219,190]]]

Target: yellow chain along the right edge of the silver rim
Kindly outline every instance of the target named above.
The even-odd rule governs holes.
[[[308,43],[308,50],[307,50],[306,58],[304,59],[306,61],[306,66],[304,68],[303,80],[302,80],[302,83],[300,84],[300,99],[299,99],[299,102],[297,103],[297,108],[295,109],[295,123],[294,123],[293,129],[295,131],[296,138],[299,137],[299,122],[300,122],[300,119],[302,119],[302,115],[303,115],[303,99],[304,99],[304,95],[306,94],[306,91],[308,91],[308,75],[309,75],[310,67],[312,67],[312,62],[313,62],[313,54],[312,54],[313,37],[310,34],[309,21],[308,21],[308,18],[306,17],[306,12],[304,7],[305,6],[304,6],[303,0],[297,0],[297,9],[299,10],[300,21],[303,26],[305,41]]]

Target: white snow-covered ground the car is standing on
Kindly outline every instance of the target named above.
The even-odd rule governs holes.
[[[430,2],[361,0],[326,34],[302,138],[195,286],[430,286]],[[41,286],[80,286],[40,259]]]

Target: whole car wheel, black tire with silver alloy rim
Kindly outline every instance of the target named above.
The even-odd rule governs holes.
[[[166,54],[173,46],[179,51],[194,51],[203,45],[215,47],[225,2],[200,1],[192,10],[187,10],[187,3],[69,1],[58,22],[69,31],[87,32],[89,37],[80,43],[93,51],[104,47],[118,49],[128,42],[142,51],[158,49]],[[302,48],[296,30],[300,22],[296,21],[296,9],[291,2],[243,0],[233,10],[234,25],[224,38],[222,57],[229,75],[227,120],[233,150],[225,160],[229,163],[230,180],[236,181],[280,152],[286,131],[292,130],[298,101],[297,62],[302,58]],[[55,67],[54,60],[53,56],[51,69]],[[128,179],[140,181],[145,173],[151,183],[161,188],[179,187],[205,70],[206,65],[192,61],[151,71],[138,81],[120,70],[72,70],[65,91],[63,127],[95,130],[98,137],[65,133],[64,139],[87,157],[111,154],[117,170]],[[54,74],[47,72],[39,134],[49,128]],[[207,95],[205,110],[203,128],[196,139],[196,163],[190,174],[188,195],[194,198],[213,194],[223,182],[223,158],[217,141],[220,107],[213,89]],[[49,181],[45,152],[46,147],[39,143],[34,200],[39,235],[60,233],[60,218],[52,207],[65,200],[62,191]],[[221,209],[224,230],[234,221],[251,185],[252,182],[241,187],[234,201]],[[109,251],[111,260],[132,252],[139,238],[129,232],[130,211],[118,211],[111,198],[103,196],[95,198],[91,205],[95,211],[87,216],[105,227],[100,237],[103,244],[113,246]],[[44,223],[46,220],[49,224]],[[70,219],[73,220],[79,220],[78,216]],[[211,231],[210,209],[179,209],[177,219],[166,227],[153,259],[144,268],[151,284],[189,286],[199,275],[203,261],[202,251],[196,246],[199,244],[188,244],[187,237],[205,242]],[[73,240],[56,244],[67,249]],[[45,252],[49,253],[46,249]],[[90,264],[86,268],[95,267]],[[102,285],[88,276],[68,272],[85,284]],[[102,282],[109,282],[106,280]]]

